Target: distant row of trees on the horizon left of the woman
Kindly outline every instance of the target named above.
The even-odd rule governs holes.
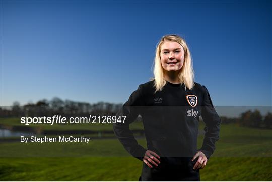
[[[88,116],[88,115],[115,115],[122,107],[122,104],[112,104],[98,102],[90,104],[86,102],[75,102],[71,100],[61,100],[54,97],[52,100],[40,100],[37,103],[28,103],[20,106],[19,102],[14,102],[11,108],[0,108],[0,117],[44,117],[53,115],[62,116]]]

